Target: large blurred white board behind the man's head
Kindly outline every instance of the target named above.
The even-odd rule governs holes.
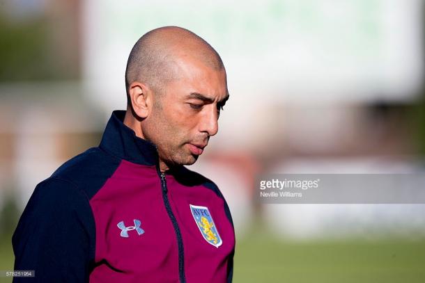
[[[422,81],[421,0],[82,3],[84,79],[93,102],[125,106],[141,35],[183,26],[221,54],[233,97],[275,102],[409,99]],[[232,99],[233,99],[232,97]],[[107,98],[107,99],[106,99]],[[232,114],[229,114],[232,116]]]

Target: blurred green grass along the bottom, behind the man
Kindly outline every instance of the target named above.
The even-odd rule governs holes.
[[[267,232],[237,239],[233,282],[425,282],[425,239],[282,241]],[[10,238],[0,270],[13,269]],[[12,280],[0,277],[0,282]]]

